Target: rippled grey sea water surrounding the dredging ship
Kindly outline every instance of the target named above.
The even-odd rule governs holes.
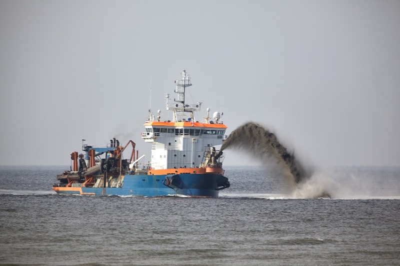
[[[0,265],[400,265],[400,167],[224,167],[220,197],[57,195],[63,166],[0,167]]]

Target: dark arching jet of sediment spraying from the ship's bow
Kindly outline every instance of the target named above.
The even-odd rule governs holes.
[[[290,171],[296,183],[306,178],[304,168],[295,159],[294,154],[280,144],[275,134],[257,123],[247,122],[236,128],[222,143],[220,150],[227,148],[241,148],[260,159],[275,158]]]

